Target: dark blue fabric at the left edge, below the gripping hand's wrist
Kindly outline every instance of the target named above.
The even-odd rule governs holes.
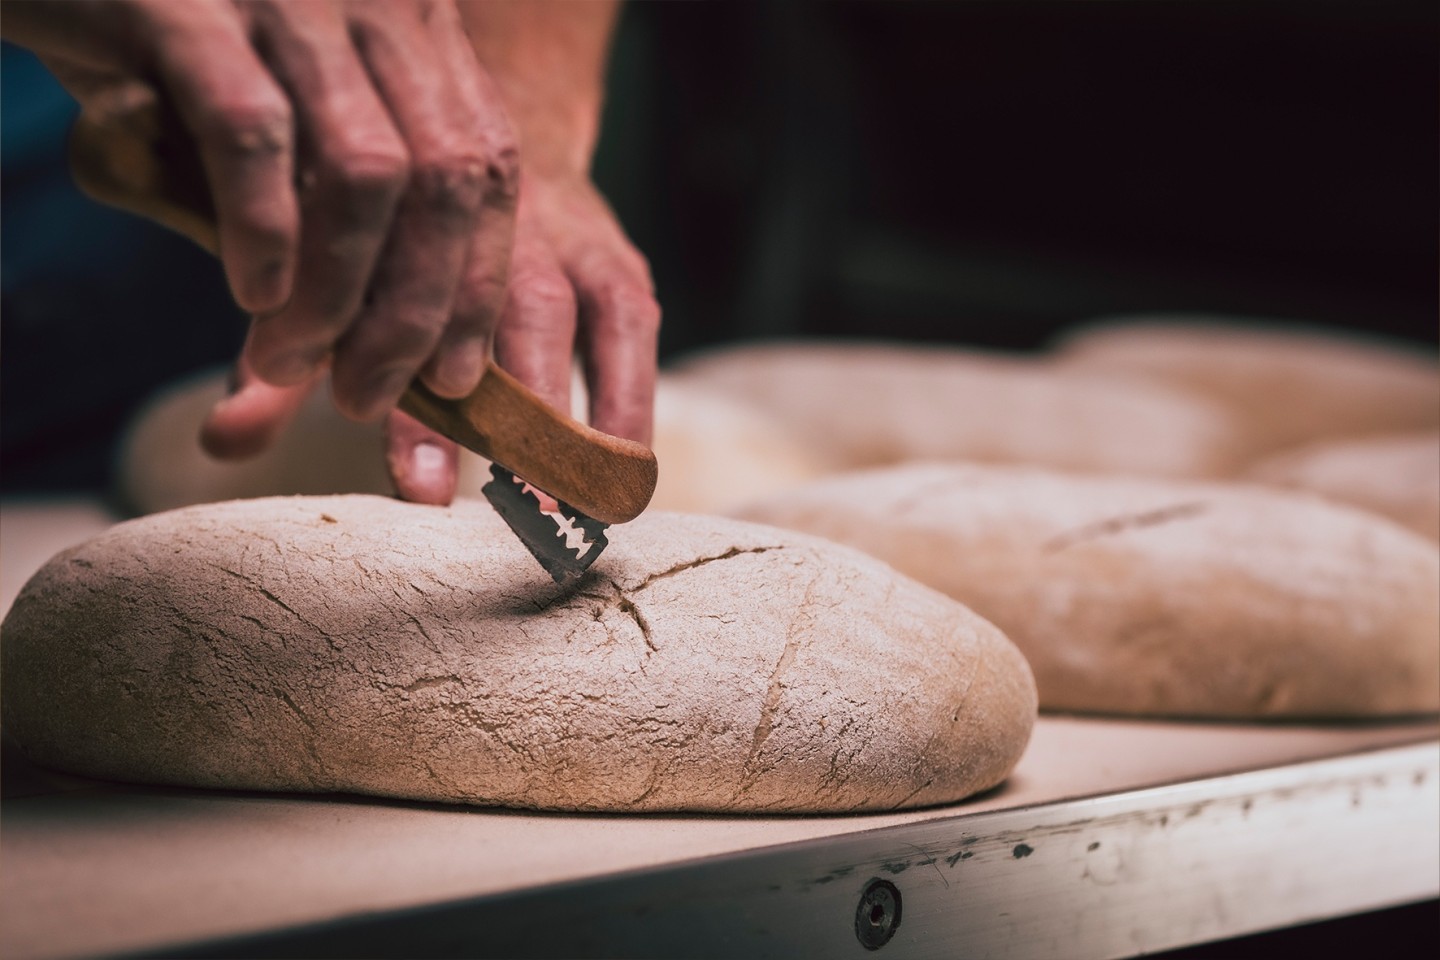
[[[85,197],[76,104],[0,46],[0,491],[102,489],[157,386],[233,358],[243,318],[189,240]]]

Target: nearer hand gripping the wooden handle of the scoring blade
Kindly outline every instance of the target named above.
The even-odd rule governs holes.
[[[442,396],[475,387],[518,173],[452,3],[12,3],[4,29],[101,121],[144,89],[174,108],[230,289],[256,315],[242,379],[301,389],[328,366],[354,419],[393,409],[416,374]],[[272,432],[225,425],[219,448]]]

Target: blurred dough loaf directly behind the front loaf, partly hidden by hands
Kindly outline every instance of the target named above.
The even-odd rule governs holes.
[[[340,416],[315,393],[272,448],[248,461],[216,461],[200,449],[200,425],[225,396],[225,373],[177,383],[135,416],[122,445],[120,499],[137,514],[192,504],[291,494],[390,494],[379,423]],[[576,416],[585,409],[575,384]],[[789,489],[822,472],[804,442],[766,415],[724,396],[661,379],[655,391],[660,484],[652,510],[720,512]],[[490,465],[459,455],[459,495],[481,497]]]

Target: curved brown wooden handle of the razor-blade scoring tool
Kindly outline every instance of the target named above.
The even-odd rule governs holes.
[[[187,141],[166,138],[154,104],[114,122],[86,117],[71,132],[71,167],[89,196],[219,249],[213,204]],[[431,393],[419,380],[400,409],[425,426],[490,458],[556,499],[606,524],[639,515],[655,492],[655,455],[634,440],[600,433],[546,404],[495,366],[461,400]]]

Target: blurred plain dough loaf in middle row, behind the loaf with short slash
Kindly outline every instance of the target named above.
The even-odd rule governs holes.
[[[1161,476],[1234,469],[1224,410],[1044,360],[939,345],[779,343],[704,354],[674,376],[756,404],[832,469],[914,459]]]

